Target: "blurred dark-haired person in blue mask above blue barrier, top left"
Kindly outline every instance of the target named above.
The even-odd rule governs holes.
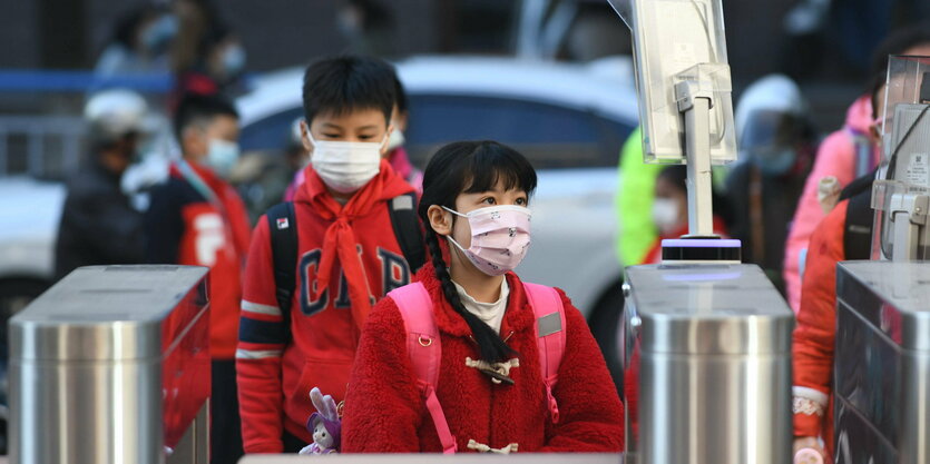
[[[101,77],[167,75],[168,51],[177,29],[177,18],[168,9],[155,4],[136,7],[117,21],[94,71]]]

